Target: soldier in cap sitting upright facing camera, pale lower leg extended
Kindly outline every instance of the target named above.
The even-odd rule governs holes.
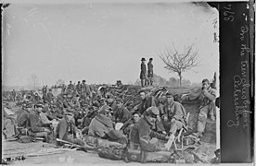
[[[186,110],[181,103],[173,101],[173,95],[168,91],[166,93],[166,101],[160,107],[160,115],[165,129],[170,135],[170,139],[165,145],[169,150],[173,144],[176,131],[186,125]]]

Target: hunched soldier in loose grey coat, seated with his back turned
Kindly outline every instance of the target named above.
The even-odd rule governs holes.
[[[127,138],[122,132],[114,129],[114,123],[111,121],[110,116],[110,111],[107,107],[102,107],[98,110],[98,113],[89,125],[88,135],[107,138],[110,141],[127,144]]]

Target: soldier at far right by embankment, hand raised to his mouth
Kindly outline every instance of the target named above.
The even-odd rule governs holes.
[[[211,121],[215,121],[216,90],[211,89],[210,81],[207,78],[202,80],[201,89],[191,91],[189,94],[182,96],[182,100],[193,101],[196,99],[201,101],[201,103],[198,115],[198,132],[195,135],[201,137],[204,133],[208,114],[210,115]]]

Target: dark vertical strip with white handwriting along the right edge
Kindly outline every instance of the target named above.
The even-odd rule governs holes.
[[[221,162],[252,161],[254,85],[249,3],[220,3]]]

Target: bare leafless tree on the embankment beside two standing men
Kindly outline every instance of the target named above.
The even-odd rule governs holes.
[[[164,68],[178,75],[180,86],[182,86],[182,74],[199,64],[198,51],[194,49],[194,44],[186,46],[183,53],[179,53],[173,44],[173,49],[166,48],[158,55],[165,64]]]

